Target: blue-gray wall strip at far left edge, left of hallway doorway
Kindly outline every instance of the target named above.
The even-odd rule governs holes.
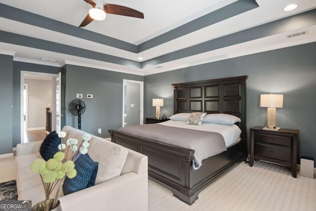
[[[12,59],[0,54],[0,155],[12,153]]]

